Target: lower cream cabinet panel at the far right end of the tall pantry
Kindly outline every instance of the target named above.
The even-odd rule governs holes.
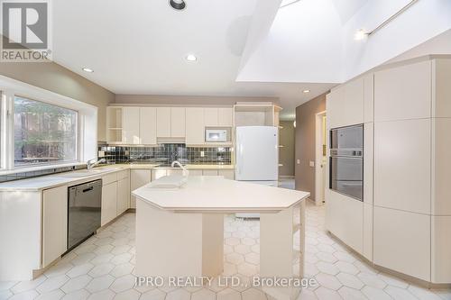
[[[451,282],[451,216],[432,216],[431,281],[437,284]]]

